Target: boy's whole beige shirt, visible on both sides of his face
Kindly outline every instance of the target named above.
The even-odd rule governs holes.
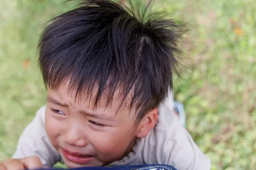
[[[173,112],[172,96],[158,110],[154,129],[145,138],[137,139],[131,153],[110,165],[166,164],[178,170],[210,170],[210,159],[199,150],[188,131],[178,122]],[[35,155],[48,167],[61,161],[59,153],[48,140],[44,124],[45,106],[36,112],[35,118],[21,134],[12,158]]]

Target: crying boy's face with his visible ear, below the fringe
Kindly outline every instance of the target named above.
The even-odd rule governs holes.
[[[136,138],[145,137],[155,125],[157,110],[134,126],[135,111],[121,107],[116,114],[117,99],[105,108],[102,97],[95,110],[92,99],[75,103],[75,94],[67,94],[67,89],[48,90],[45,129],[68,167],[103,166],[120,160],[132,151]]]

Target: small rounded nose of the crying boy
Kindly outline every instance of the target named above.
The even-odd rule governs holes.
[[[76,127],[70,127],[67,132],[63,135],[63,142],[67,143],[68,145],[78,146],[78,147],[85,147],[87,145],[87,139],[82,134],[79,133],[79,129]]]

